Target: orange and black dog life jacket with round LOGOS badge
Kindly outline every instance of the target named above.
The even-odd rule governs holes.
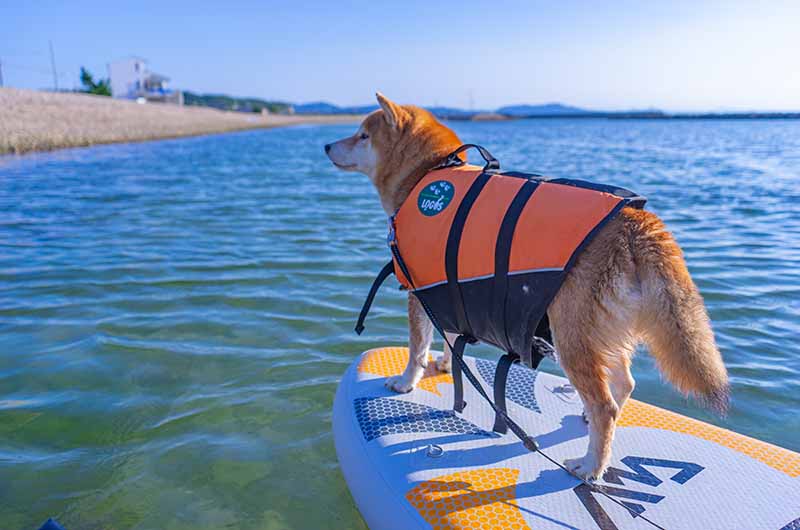
[[[486,167],[468,165],[457,156],[468,147],[428,172],[391,218],[392,269],[437,329],[531,365],[534,336],[549,340],[547,307],[581,250],[624,206],[641,208],[645,199],[613,186],[503,173],[483,148]]]

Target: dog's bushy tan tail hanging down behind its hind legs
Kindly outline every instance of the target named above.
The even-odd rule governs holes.
[[[670,383],[724,415],[728,372],[683,253],[654,214],[639,211],[634,219],[631,245],[642,288],[639,333]]]

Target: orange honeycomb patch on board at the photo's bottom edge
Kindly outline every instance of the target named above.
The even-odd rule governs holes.
[[[426,480],[406,499],[434,530],[530,528],[516,504],[519,470],[475,469]]]

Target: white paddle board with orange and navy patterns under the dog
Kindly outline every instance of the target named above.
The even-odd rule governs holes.
[[[465,357],[492,395],[496,363]],[[334,402],[336,451],[350,492],[373,530],[414,528],[652,529],[654,526],[492,432],[494,411],[464,381],[429,363],[409,394],[385,389],[406,348],[365,352]],[[582,456],[583,406],[568,381],[512,367],[510,416],[557,462]],[[800,529],[800,454],[629,400],[617,423],[606,493],[662,528]]]

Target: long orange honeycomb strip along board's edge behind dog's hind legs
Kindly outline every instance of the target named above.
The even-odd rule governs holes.
[[[690,434],[695,438],[702,438],[747,455],[790,477],[800,476],[800,454],[798,453],[635,399],[630,399],[625,404],[617,421],[617,427],[649,427]]]

